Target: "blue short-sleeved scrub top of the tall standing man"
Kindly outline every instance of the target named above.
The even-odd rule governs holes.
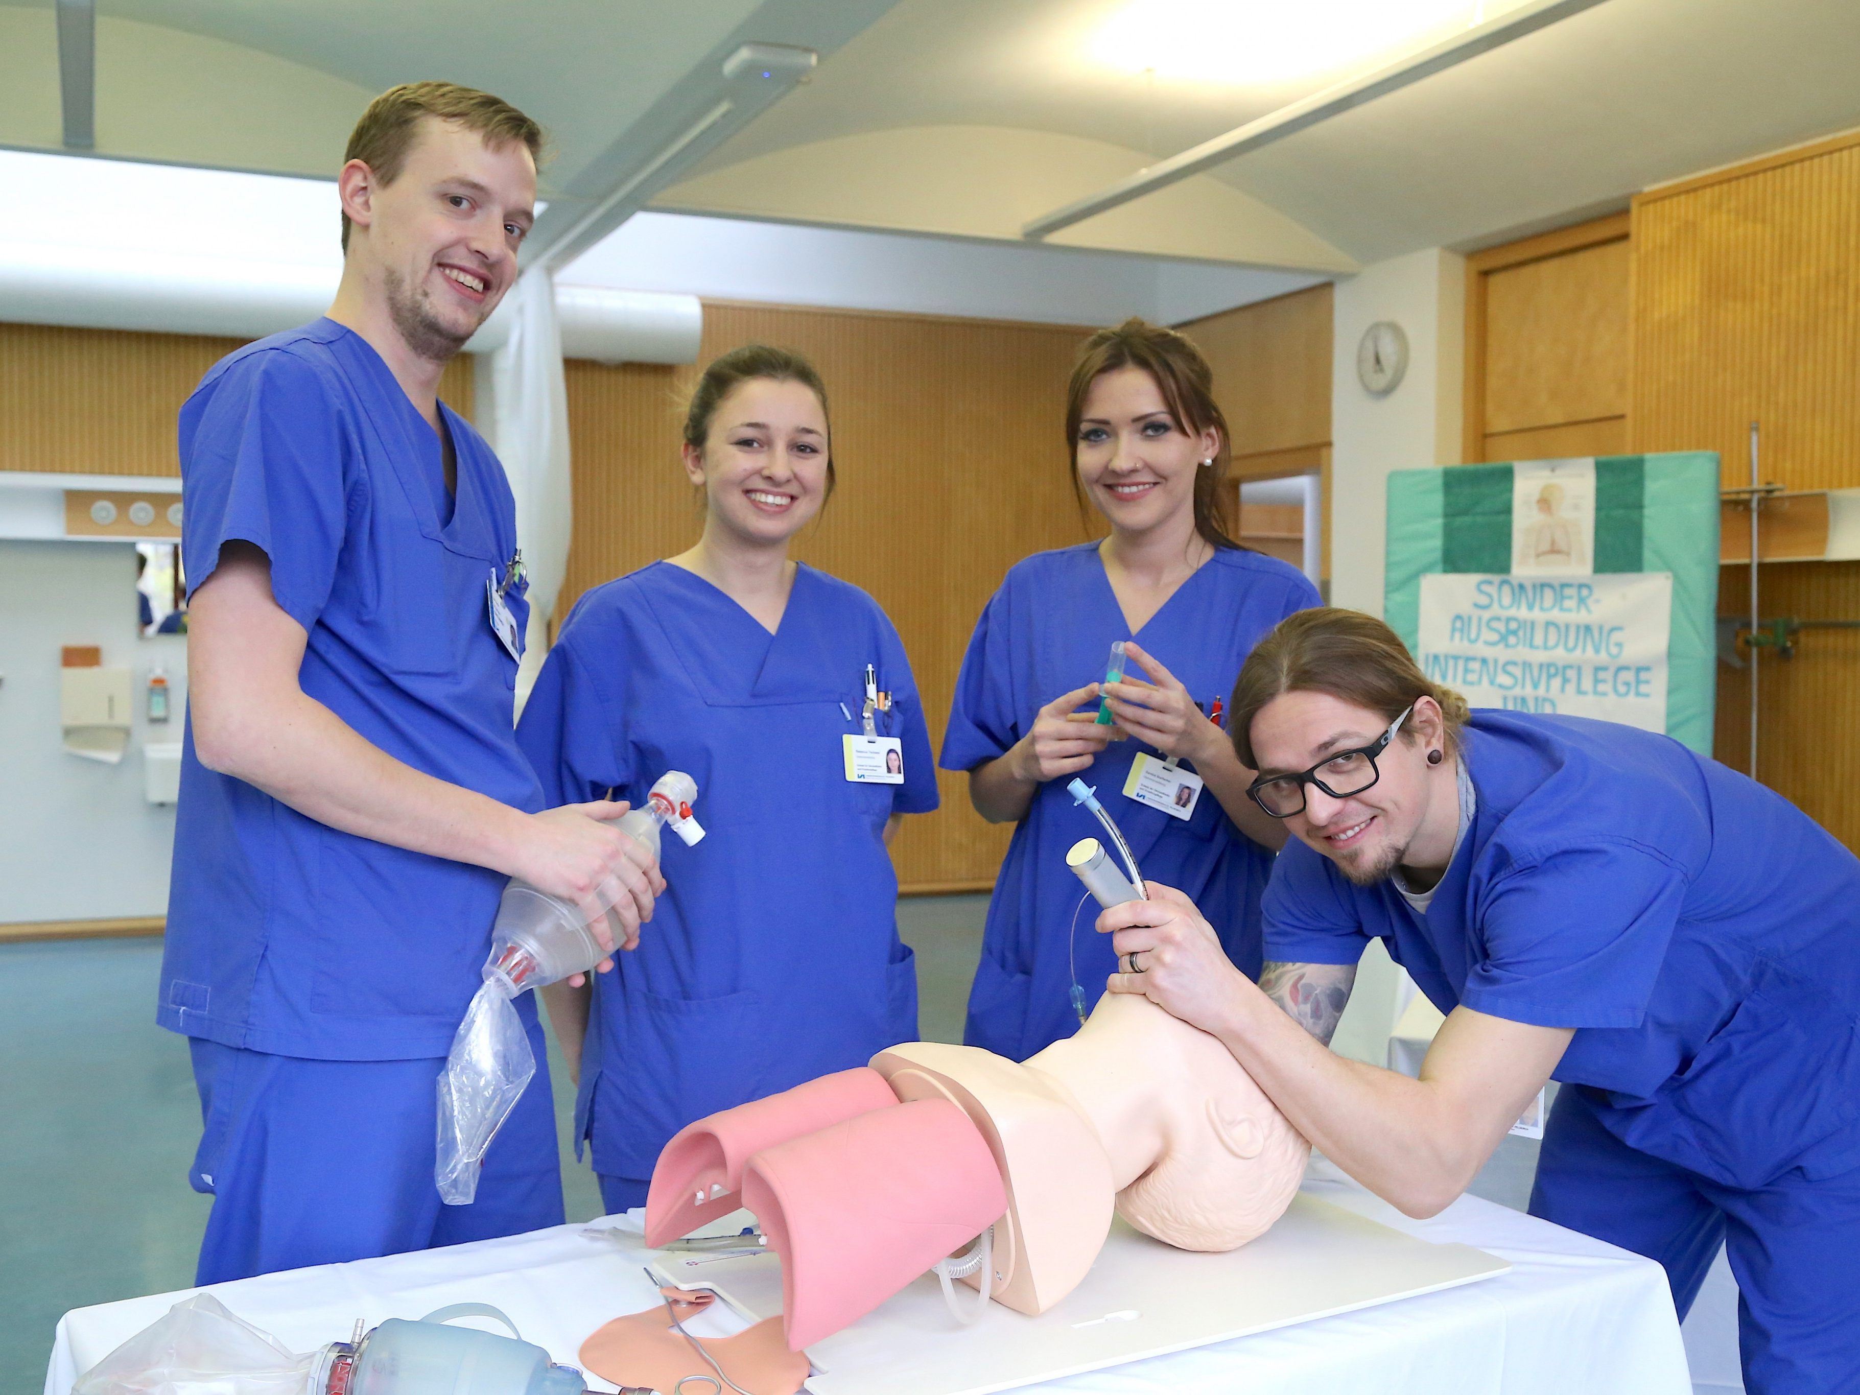
[[[188,586],[227,541],[257,545],[277,604],[309,632],[307,696],[415,770],[534,811],[541,789],[512,731],[517,660],[485,603],[515,552],[515,508],[491,448],[441,411],[458,459],[445,525],[439,437],[359,335],[316,320],[221,359],[180,409]],[[521,632],[521,586],[506,599]],[[286,1056],[443,1056],[502,887],[214,774],[190,720],[160,1023]]]

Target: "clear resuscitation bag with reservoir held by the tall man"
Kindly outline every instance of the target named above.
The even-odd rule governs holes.
[[[666,772],[644,809],[631,809],[619,831],[644,843],[658,857],[658,830],[670,826],[686,844],[703,839],[692,818],[696,781],[683,770]],[[614,943],[619,924],[612,904],[601,898]],[[465,1021],[452,1038],[452,1053],[439,1073],[439,1157],[433,1181],[446,1205],[469,1205],[478,1196],[478,1172],[497,1131],[504,1127],[523,1090],[536,1075],[536,1053],[517,1016],[515,997],[577,973],[588,973],[608,956],[588,917],[567,900],[512,878],[491,928],[491,958],[484,986],[465,1008]]]

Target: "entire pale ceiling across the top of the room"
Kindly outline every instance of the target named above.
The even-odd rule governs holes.
[[[1030,218],[1518,2],[99,0],[97,153],[327,179],[374,93],[448,76],[551,128],[545,193],[567,214],[690,121],[722,54],[787,43],[822,54],[811,82],[655,206],[1021,242]],[[1315,60],[1291,71],[1300,45]],[[1605,0],[1053,242],[1347,273],[1860,125],[1856,73],[1860,0]],[[52,0],[0,0],[0,145],[58,149],[58,99]]]

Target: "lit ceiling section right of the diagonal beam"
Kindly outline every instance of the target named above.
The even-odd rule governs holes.
[[[1092,54],[1127,4],[1172,2],[1190,0],[900,0],[655,205],[1017,238],[1027,218],[1352,71],[1222,86]],[[1436,19],[1443,4],[1412,0]],[[1283,9],[1226,0],[1222,13],[1265,26]],[[1244,33],[1229,24],[1209,43],[1239,56]],[[1058,240],[1319,272],[1477,246],[1860,125],[1856,73],[1856,0],[1607,0]]]

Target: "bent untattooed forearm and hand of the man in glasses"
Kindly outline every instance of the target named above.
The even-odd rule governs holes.
[[[1144,993],[1220,1038],[1313,1148],[1410,1216],[1466,1190],[1574,1036],[1455,1008],[1421,1079],[1365,1066],[1334,1055],[1235,969],[1187,897],[1157,884],[1149,897],[1099,917],[1112,949],[1144,969],[1112,975],[1110,991]],[[1324,1016],[1328,1034],[1335,1021]]]

